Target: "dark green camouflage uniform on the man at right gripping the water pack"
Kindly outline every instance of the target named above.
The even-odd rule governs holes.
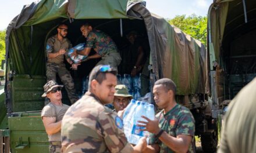
[[[162,110],[156,117],[159,119],[159,127],[165,130],[170,136],[177,137],[178,135],[189,135],[194,138],[195,121],[188,108],[176,104],[175,107],[166,114],[163,114]],[[195,152],[193,150],[193,143],[194,139],[191,141],[188,152]],[[150,137],[150,144],[159,144],[161,153],[174,152],[159,139],[155,139],[154,134]]]

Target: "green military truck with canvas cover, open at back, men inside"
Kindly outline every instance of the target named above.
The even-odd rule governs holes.
[[[69,26],[67,38],[73,45],[83,42],[80,25],[86,22],[110,35],[120,52],[129,45],[125,37],[129,31],[139,31],[148,39],[151,80],[154,83],[160,78],[171,78],[176,83],[176,100],[193,113],[195,134],[201,137],[202,149],[214,152],[218,142],[217,115],[212,115],[212,110],[218,112],[215,111],[218,101],[212,94],[216,89],[216,77],[213,77],[216,70],[212,70],[213,63],[208,63],[209,59],[215,60],[201,42],[150,13],[144,1],[129,0],[41,0],[24,6],[12,20],[6,30],[8,125],[3,129],[5,136],[10,137],[10,150],[48,152],[48,137],[40,117],[45,104],[41,95],[46,82],[46,41],[56,34],[58,24],[66,23]],[[70,70],[77,91],[81,90],[81,76],[88,75],[96,63],[97,60],[90,60],[80,65],[79,70]],[[65,90],[62,92],[63,103],[70,104]],[[5,121],[0,122],[6,125]]]

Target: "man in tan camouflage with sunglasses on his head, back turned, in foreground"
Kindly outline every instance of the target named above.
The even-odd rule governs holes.
[[[63,117],[62,152],[140,152],[145,137],[134,147],[123,133],[122,119],[104,106],[113,102],[116,70],[98,65],[89,77],[88,92]]]

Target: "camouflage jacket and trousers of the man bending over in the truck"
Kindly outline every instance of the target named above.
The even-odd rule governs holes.
[[[93,48],[101,56],[102,60],[97,65],[111,65],[117,70],[122,59],[115,42],[104,32],[99,30],[91,31],[87,36],[86,48]]]

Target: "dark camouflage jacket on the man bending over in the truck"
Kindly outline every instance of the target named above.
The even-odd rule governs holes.
[[[101,56],[110,52],[118,52],[115,42],[104,32],[91,31],[87,36],[86,48],[93,48]]]

